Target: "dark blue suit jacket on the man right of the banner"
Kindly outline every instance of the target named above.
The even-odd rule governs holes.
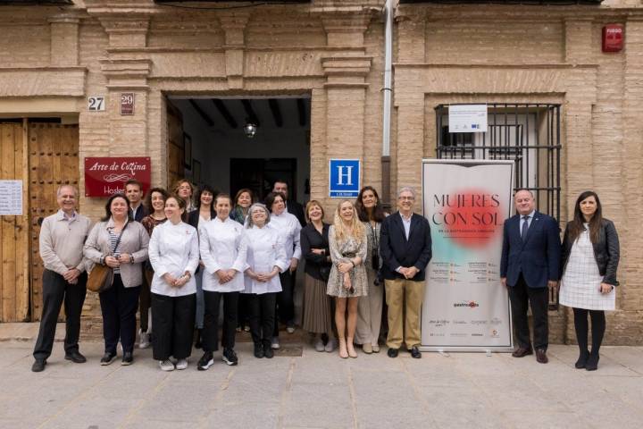
[[[522,277],[530,288],[545,288],[559,279],[561,242],[558,223],[547,214],[534,213],[527,238],[522,241],[519,214],[505,221],[500,277],[515,286]]]

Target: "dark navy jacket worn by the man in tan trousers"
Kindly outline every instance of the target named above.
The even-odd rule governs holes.
[[[399,212],[385,218],[380,230],[380,256],[384,262],[381,269],[384,279],[404,279],[404,275],[395,271],[396,268],[414,266],[420,271],[412,280],[422,282],[431,257],[429,221],[413,213],[409,240],[406,240]]]

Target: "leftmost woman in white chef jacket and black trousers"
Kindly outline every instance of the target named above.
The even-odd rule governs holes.
[[[163,371],[186,369],[192,351],[196,312],[194,273],[199,262],[196,229],[182,222],[186,203],[171,196],[165,200],[167,222],[154,228],[149,243],[152,278],[153,356]]]

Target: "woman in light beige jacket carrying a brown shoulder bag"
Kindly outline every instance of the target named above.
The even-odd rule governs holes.
[[[107,200],[104,218],[89,232],[83,248],[85,257],[94,264],[109,266],[114,274],[112,287],[98,294],[104,336],[101,365],[113,362],[119,341],[123,349],[121,365],[134,361],[138,295],[148,244],[146,229],[129,218],[129,199],[114,194]]]

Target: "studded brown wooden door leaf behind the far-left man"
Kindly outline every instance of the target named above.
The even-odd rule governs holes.
[[[43,263],[38,251],[42,220],[58,211],[56,190],[79,186],[78,124],[29,123],[29,236],[31,320],[42,313]]]

